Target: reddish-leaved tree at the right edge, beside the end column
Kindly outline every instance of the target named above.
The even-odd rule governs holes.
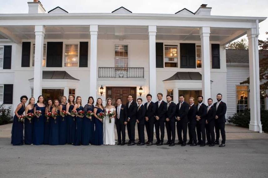
[[[266,35],[268,34],[268,32],[266,32]],[[264,58],[259,59],[259,66],[260,66],[260,91],[262,95],[265,95],[266,97],[268,97],[268,93],[266,93],[266,91],[268,90],[268,55],[267,53],[265,53],[266,51],[264,50],[268,50],[268,38],[266,38],[266,40],[259,40],[258,41],[259,44],[259,48],[260,48],[260,54],[262,53],[264,56]],[[250,80],[249,77],[243,81],[240,82],[240,84],[249,84]]]

